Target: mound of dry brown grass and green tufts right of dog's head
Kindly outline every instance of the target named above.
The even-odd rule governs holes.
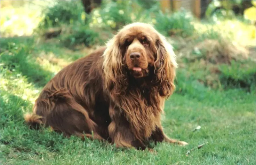
[[[183,74],[179,75],[181,80],[178,86],[181,86],[182,92],[185,92],[184,89],[188,90],[188,87],[182,87],[182,84],[188,81],[191,85],[197,83],[199,86],[215,90],[235,87],[254,92],[250,88],[255,86],[256,81],[253,76],[256,69],[255,61],[241,45],[234,45],[221,37],[219,40],[205,38],[196,44],[192,43],[191,46],[187,45],[186,48],[179,50],[179,53],[184,54],[182,59],[179,59],[185,66],[181,70],[189,70],[185,74],[189,78],[182,77]]]

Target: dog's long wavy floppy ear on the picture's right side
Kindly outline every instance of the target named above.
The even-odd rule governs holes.
[[[175,90],[174,78],[178,65],[172,45],[166,41],[163,35],[158,34],[158,36],[159,38],[156,40],[155,74],[159,84],[159,94],[169,97]]]

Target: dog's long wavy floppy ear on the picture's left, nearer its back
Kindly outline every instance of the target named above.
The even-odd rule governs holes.
[[[104,87],[110,95],[118,96],[124,94],[127,88],[127,76],[123,69],[119,37],[115,35],[106,46],[103,53]]]

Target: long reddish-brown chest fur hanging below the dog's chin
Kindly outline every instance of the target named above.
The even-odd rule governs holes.
[[[122,103],[122,110],[136,138],[148,139],[156,129],[162,112],[158,92],[154,88],[134,90],[126,94]]]

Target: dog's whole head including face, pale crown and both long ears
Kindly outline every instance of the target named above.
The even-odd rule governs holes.
[[[134,78],[154,75],[161,96],[174,90],[177,63],[172,46],[149,24],[132,23],[122,28],[107,43],[103,57],[105,85],[115,93],[127,87],[126,74]]]

